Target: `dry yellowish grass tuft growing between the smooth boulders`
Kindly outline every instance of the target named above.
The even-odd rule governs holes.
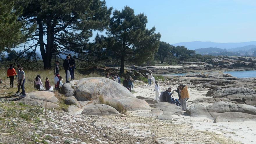
[[[120,102],[117,102],[117,103],[109,102],[109,101],[105,100],[102,95],[99,96],[99,103],[109,105],[109,106],[115,108],[119,113],[122,113],[124,115],[126,115],[126,113],[127,113],[127,109]]]

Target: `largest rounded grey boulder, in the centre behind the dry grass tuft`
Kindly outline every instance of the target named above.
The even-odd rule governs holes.
[[[90,77],[80,79],[76,86],[76,98],[79,101],[95,100],[99,96],[108,98],[132,97],[133,94],[121,84],[104,77]]]

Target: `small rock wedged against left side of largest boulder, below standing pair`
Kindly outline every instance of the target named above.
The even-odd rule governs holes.
[[[61,93],[65,94],[66,97],[74,96],[77,83],[78,80],[70,81],[70,83],[64,83],[61,87]]]

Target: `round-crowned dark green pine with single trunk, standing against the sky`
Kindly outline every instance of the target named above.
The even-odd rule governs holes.
[[[124,72],[124,64],[143,63],[157,52],[160,33],[155,28],[146,29],[147,17],[126,6],[122,11],[115,10],[107,29],[107,50],[112,57],[120,59],[120,73]]]

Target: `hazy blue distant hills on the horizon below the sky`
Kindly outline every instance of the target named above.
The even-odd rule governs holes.
[[[195,42],[179,42],[176,44],[171,44],[174,46],[185,46],[188,49],[195,50],[200,48],[206,48],[206,47],[218,47],[220,49],[234,49],[238,47],[244,47],[249,45],[256,45],[256,41],[252,42],[237,42],[237,43],[218,43],[218,42],[201,42],[201,41],[195,41]]]

